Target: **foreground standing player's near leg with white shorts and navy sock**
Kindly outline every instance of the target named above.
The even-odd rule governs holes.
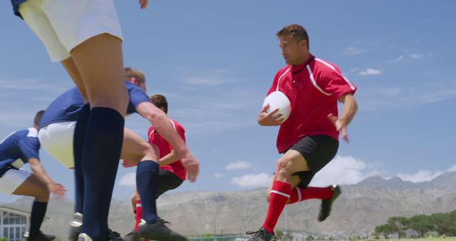
[[[83,86],[92,108],[86,128],[88,135],[83,139],[81,166],[85,183],[83,219],[89,222],[83,226],[83,231],[94,240],[105,240],[110,197],[123,140],[123,117],[128,105],[123,83],[121,31],[115,6],[113,1],[93,0],[26,3],[29,2],[28,6],[39,7],[28,15],[38,13],[40,18],[39,21],[35,21],[38,17],[29,19],[27,24],[34,24],[37,29],[41,26],[51,29],[40,31],[37,36],[45,43],[53,61],[63,61],[71,56],[77,72],[68,73],[71,77],[79,73],[83,85],[78,84],[78,87]],[[19,9],[23,16],[27,15],[26,9],[22,5]],[[89,17],[91,21],[87,21]],[[63,46],[60,49],[66,50],[66,56],[56,54],[63,52],[53,51],[53,46]]]

